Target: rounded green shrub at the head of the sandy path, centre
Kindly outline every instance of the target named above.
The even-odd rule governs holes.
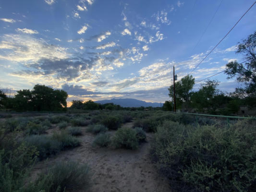
[[[115,148],[137,149],[139,141],[134,129],[121,128],[113,136],[112,144]]]

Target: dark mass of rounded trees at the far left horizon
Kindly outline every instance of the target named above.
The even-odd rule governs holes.
[[[6,96],[0,90],[0,108],[16,111],[60,111],[66,110],[67,97],[67,92],[63,90],[36,84],[33,90],[19,90],[13,97]]]

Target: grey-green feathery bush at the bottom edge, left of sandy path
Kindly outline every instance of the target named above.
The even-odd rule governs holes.
[[[58,162],[26,187],[26,192],[64,192],[88,190],[91,184],[90,168],[77,162]]]

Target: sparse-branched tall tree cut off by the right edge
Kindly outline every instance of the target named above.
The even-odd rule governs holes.
[[[236,88],[235,93],[240,96],[256,96],[256,31],[238,43],[236,53],[242,53],[247,62],[232,61],[226,64],[225,73],[228,79],[236,77],[244,87]]]

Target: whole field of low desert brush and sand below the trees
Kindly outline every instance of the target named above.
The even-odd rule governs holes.
[[[0,114],[1,192],[255,192],[256,120]]]

